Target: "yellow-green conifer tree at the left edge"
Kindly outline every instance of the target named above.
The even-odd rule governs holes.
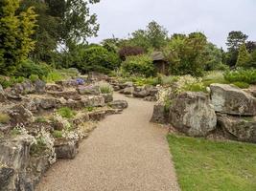
[[[0,1],[0,74],[13,74],[35,48],[35,11],[28,8],[17,14],[18,8],[18,0]]]

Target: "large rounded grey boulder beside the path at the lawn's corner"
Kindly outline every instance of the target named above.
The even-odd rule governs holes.
[[[217,117],[208,96],[204,93],[183,93],[170,108],[170,122],[191,137],[205,137],[216,129]]]

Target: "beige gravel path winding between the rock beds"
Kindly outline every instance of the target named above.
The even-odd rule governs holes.
[[[178,190],[167,130],[149,122],[153,103],[115,99],[128,100],[128,109],[100,122],[77,158],[58,161],[37,191]]]

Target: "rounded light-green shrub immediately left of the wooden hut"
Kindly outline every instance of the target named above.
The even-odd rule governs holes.
[[[156,74],[151,57],[148,55],[128,56],[121,67],[122,71],[129,75],[150,77]]]

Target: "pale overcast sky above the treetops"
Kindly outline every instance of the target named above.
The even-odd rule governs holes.
[[[152,21],[170,33],[204,32],[209,41],[225,48],[228,32],[242,31],[256,41],[256,0],[101,0],[91,6],[98,15],[99,43],[113,35],[145,29]]]

